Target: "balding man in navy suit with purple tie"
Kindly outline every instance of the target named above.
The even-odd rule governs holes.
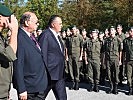
[[[13,85],[17,89],[19,100],[45,99],[47,73],[41,50],[32,35],[38,25],[38,19],[32,12],[24,13],[20,19],[13,77]]]

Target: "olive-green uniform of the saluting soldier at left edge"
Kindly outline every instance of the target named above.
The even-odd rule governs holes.
[[[1,33],[0,33],[1,34]],[[16,54],[6,39],[0,35],[0,98],[7,97],[12,81],[12,61]]]

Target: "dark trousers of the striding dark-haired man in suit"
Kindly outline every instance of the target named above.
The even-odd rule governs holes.
[[[48,87],[44,93],[44,96],[48,95],[49,91],[52,89],[56,100],[67,100],[65,81],[61,80],[51,80],[48,84]]]

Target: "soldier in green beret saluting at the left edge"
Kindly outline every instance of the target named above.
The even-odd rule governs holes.
[[[10,19],[10,21],[9,21]],[[10,30],[7,43],[3,29]],[[0,4],[0,100],[7,100],[12,79],[12,61],[16,59],[18,21],[9,8]]]

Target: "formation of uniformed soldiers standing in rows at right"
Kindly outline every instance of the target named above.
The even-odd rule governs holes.
[[[133,27],[126,34],[120,24],[105,32],[93,29],[87,37],[85,29],[80,32],[73,26],[62,31],[61,36],[65,46],[66,73],[73,82],[70,89],[79,89],[82,75],[91,83],[88,91],[99,92],[98,85],[104,84],[107,78],[110,83],[107,93],[118,94],[118,85],[122,86],[127,77],[129,95],[133,94]]]

